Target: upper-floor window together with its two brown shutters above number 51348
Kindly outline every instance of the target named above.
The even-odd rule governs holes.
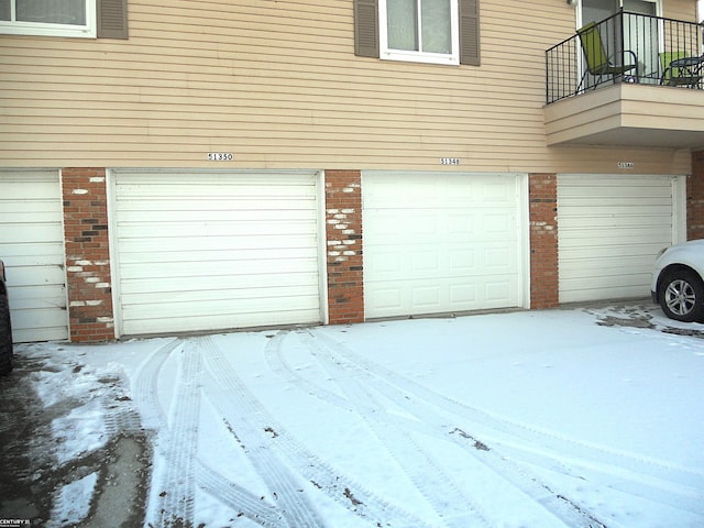
[[[480,65],[480,0],[354,0],[354,53]]]

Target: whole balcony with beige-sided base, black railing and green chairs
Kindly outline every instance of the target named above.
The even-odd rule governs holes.
[[[618,12],[546,52],[548,145],[704,147],[702,25]]]

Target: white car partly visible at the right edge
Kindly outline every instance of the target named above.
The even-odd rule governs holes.
[[[663,250],[656,261],[650,294],[664,315],[678,321],[704,321],[704,240]]]

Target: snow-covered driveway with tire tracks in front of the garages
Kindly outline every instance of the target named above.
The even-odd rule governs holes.
[[[72,402],[31,459],[154,431],[145,526],[684,528],[703,337],[634,305],[16,353]],[[88,526],[100,472],[64,476],[46,526]]]

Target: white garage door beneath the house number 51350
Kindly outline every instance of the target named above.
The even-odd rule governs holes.
[[[315,174],[118,172],[121,334],[318,322]]]

